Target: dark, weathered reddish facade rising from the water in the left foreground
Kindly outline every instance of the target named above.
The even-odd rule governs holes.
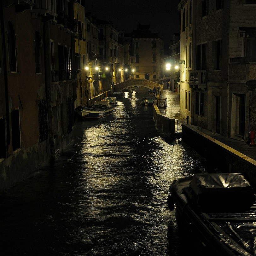
[[[54,160],[73,141],[69,4],[0,3],[0,189]]]

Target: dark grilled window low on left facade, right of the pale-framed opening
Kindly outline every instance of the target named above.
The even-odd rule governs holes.
[[[38,101],[38,121],[39,121],[39,142],[43,142],[46,139],[48,139],[46,100]]]

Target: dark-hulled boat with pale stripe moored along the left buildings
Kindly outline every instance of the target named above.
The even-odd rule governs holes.
[[[83,118],[95,119],[112,114],[114,109],[114,104],[110,104],[108,101],[96,101],[92,107],[77,107],[75,112]]]

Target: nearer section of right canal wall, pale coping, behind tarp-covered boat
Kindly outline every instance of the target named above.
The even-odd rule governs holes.
[[[182,144],[201,155],[213,170],[242,173],[256,188],[256,161],[252,158],[186,124],[182,125]]]

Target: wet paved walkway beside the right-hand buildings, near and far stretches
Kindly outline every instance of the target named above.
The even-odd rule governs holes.
[[[164,88],[160,98],[166,98],[167,101],[167,108],[159,109],[160,113],[173,119],[179,119],[179,94],[177,92],[170,91],[170,89]],[[200,127],[196,125],[190,125],[190,128],[201,131]],[[235,149],[241,154],[244,154],[245,156],[256,160],[256,146],[249,146],[247,144],[248,142],[225,137],[218,133],[208,131],[207,129],[202,129],[202,132],[214,138],[215,140],[218,140],[221,143],[229,146],[230,148]],[[254,139],[254,142],[256,143],[256,139]]]

